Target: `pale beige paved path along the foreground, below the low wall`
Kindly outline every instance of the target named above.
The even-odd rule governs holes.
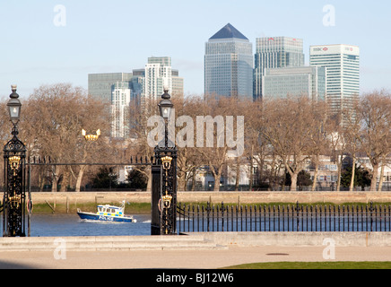
[[[328,261],[322,247],[231,246],[225,250],[105,251],[105,252],[0,252],[0,268],[213,269],[229,265],[274,261]],[[62,256],[63,259],[56,259]],[[336,247],[335,261],[391,261],[391,247]]]

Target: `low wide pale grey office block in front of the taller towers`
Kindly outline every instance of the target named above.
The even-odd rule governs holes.
[[[265,69],[262,95],[265,99],[307,96],[311,100],[325,100],[326,68],[300,66]]]

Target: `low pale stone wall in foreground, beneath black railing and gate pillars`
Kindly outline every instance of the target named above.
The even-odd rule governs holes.
[[[167,236],[78,236],[61,238],[66,251],[227,250],[229,247],[391,246],[390,232],[199,232]],[[57,237],[0,238],[0,254],[15,251],[56,251]],[[326,240],[325,240],[326,239]],[[352,251],[351,251],[352,252]],[[354,251],[353,251],[354,252]]]

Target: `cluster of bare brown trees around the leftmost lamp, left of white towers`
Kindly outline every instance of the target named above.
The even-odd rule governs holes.
[[[109,136],[109,107],[100,100],[87,96],[82,88],[69,83],[43,85],[26,99],[21,95],[22,113],[19,123],[20,139],[26,144],[28,157],[50,159],[51,162],[83,163],[106,160],[116,154],[107,141],[88,143],[82,129],[92,133],[103,131],[102,138]],[[5,105],[0,103],[0,136],[3,143],[10,139],[11,124]],[[110,156],[109,156],[110,154]],[[86,166],[35,166],[31,185],[42,189],[51,185],[52,191],[68,186],[80,190]],[[92,171],[92,170],[91,170]]]

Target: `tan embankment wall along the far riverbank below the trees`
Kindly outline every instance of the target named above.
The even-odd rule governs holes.
[[[106,204],[123,200],[151,203],[150,192],[32,192],[34,204]],[[0,200],[3,193],[0,193]],[[259,203],[391,203],[391,192],[178,192],[178,202],[213,204]]]

